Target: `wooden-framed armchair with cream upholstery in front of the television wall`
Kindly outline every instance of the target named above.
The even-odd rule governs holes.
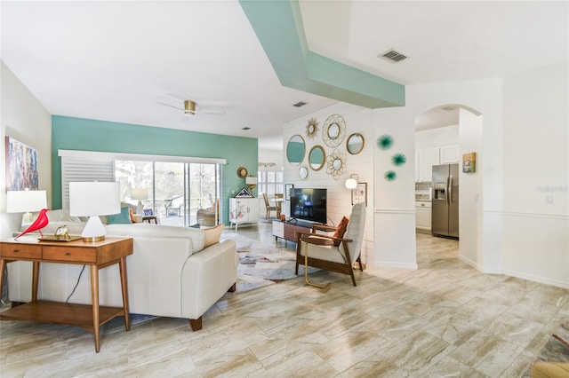
[[[356,285],[354,276],[354,263],[359,264],[363,272],[363,264],[360,258],[360,250],[364,240],[365,229],[365,203],[357,203],[352,207],[349,224],[343,236],[331,236],[317,233],[318,230],[336,231],[336,227],[313,225],[312,232],[297,233],[296,241],[296,268],[299,273],[299,264],[308,264],[330,272],[349,274],[352,283]],[[308,259],[305,261],[305,253],[308,250]],[[305,267],[306,270],[306,267]],[[308,278],[307,278],[307,283]]]

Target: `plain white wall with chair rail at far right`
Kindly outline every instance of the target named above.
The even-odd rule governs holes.
[[[567,61],[504,79],[503,271],[569,288]]]

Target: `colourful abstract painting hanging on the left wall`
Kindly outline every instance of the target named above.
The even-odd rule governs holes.
[[[38,190],[37,150],[6,137],[6,190]]]

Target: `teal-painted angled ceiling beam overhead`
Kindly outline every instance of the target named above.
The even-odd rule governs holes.
[[[405,86],[309,51],[298,1],[239,0],[282,85],[369,108],[405,106]]]

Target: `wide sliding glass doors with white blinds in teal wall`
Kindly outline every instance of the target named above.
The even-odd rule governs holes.
[[[116,181],[121,201],[132,200],[132,189],[147,189],[144,209],[160,216],[161,224],[196,224],[198,209],[209,209],[220,196],[221,164],[225,159],[60,150],[61,202],[68,208],[68,183]]]

